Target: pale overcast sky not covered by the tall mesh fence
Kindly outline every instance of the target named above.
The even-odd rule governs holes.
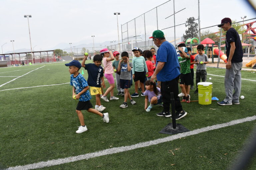
[[[121,13],[118,16],[121,39],[121,24],[166,1],[1,0],[0,45],[7,42],[2,46],[4,52],[13,50],[10,40],[14,40],[15,49],[30,48],[28,21],[24,15],[32,15],[29,24],[35,51],[52,49],[59,43],[91,43],[92,35],[98,43],[118,40],[117,20],[113,12]],[[246,19],[256,17],[243,0],[200,0],[201,28],[219,24],[224,17],[241,21],[242,16],[247,16]]]

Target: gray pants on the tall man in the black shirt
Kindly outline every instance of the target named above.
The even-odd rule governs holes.
[[[225,74],[225,92],[226,97],[224,102],[232,103],[239,102],[239,96],[241,92],[241,69],[242,62],[231,63],[231,68],[226,69]],[[233,93],[234,91],[234,93]]]

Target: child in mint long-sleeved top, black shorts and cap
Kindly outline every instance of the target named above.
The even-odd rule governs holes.
[[[131,95],[131,97],[139,97],[138,94],[138,84],[140,81],[141,86],[141,96],[144,96],[144,82],[145,82],[145,72],[148,74],[148,67],[143,56],[140,56],[140,49],[138,47],[134,47],[132,52],[134,53],[135,57],[132,59],[132,78],[135,82],[135,93]]]

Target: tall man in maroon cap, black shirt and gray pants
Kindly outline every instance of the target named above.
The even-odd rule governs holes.
[[[226,33],[226,74],[225,74],[225,92],[226,97],[219,105],[239,105],[239,96],[241,91],[241,69],[243,66],[243,48],[237,31],[232,28],[230,18],[221,20],[221,27]],[[234,90],[234,93],[233,93]]]

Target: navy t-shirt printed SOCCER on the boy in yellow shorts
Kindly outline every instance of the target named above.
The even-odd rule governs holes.
[[[84,67],[88,72],[87,82],[91,87],[101,87],[100,78],[103,77],[102,66],[97,66],[93,63],[85,64]]]

